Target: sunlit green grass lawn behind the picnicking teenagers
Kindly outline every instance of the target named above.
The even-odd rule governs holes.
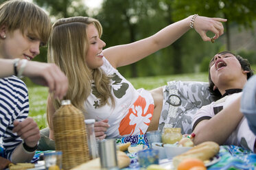
[[[256,65],[252,66],[256,71]],[[208,82],[208,73],[191,73],[183,75],[166,75],[155,77],[138,77],[128,78],[132,85],[138,88],[145,88],[146,90],[152,90],[160,86],[164,86],[167,82],[173,80],[181,81],[200,81]],[[46,121],[46,101],[48,95],[48,88],[42,86],[28,87],[30,95],[30,117],[33,117],[40,129],[47,127]]]

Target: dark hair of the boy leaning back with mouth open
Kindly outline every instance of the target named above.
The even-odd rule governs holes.
[[[225,53],[231,53],[230,51],[222,51],[218,54],[225,54]],[[241,64],[241,67],[244,71],[249,71],[247,73],[247,80],[253,76],[253,70],[251,69],[251,66],[250,66],[250,63],[248,62],[248,60],[246,58],[242,58],[241,56],[237,55],[237,54],[234,54],[234,53],[231,53],[233,56],[235,56],[235,58],[237,58],[237,60],[240,62]],[[214,83],[213,81],[211,80],[211,73],[210,73],[210,64],[211,62],[214,60],[214,57],[211,59],[210,63],[209,63],[209,92],[211,93],[211,95],[213,95],[213,98],[215,100],[218,100],[220,99],[220,97],[222,97],[222,94],[220,93],[220,91],[218,89],[216,90],[213,90],[213,86],[214,86]]]

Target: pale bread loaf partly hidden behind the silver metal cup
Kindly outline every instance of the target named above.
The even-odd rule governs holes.
[[[117,162],[119,169],[127,167],[130,165],[130,158],[129,156],[124,153],[124,151],[117,151]],[[100,167],[100,158],[95,158],[90,160],[89,162],[85,162],[77,167],[74,167],[71,170],[84,170],[84,169],[93,169],[93,170],[101,170]]]

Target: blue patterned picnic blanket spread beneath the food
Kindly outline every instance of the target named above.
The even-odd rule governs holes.
[[[117,138],[118,143],[128,143],[132,145],[143,144],[148,145],[148,139],[146,135],[135,135],[127,136],[124,138]],[[49,151],[36,151],[36,154],[32,162],[39,160],[45,152]],[[0,156],[4,156],[3,148],[0,147]],[[139,162],[137,154],[128,154],[130,157],[130,166],[122,170],[137,170],[139,169]],[[207,167],[209,170],[226,170],[226,169],[243,169],[243,170],[253,170],[256,169],[256,154],[252,151],[243,149],[235,145],[221,145],[218,156],[220,160],[216,164]]]

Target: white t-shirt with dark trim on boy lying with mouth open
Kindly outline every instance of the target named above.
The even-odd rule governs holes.
[[[214,117],[220,110],[226,108],[231,104],[235,99],[240,97],[242,93],[234,93],[232,95],[226,95],[222,99],[219,99],[218,101],[213,101],[211,104],[207,106],[202,106],[200,110],[198,110],[195,114],[195,117],[192,122],[193,130],[196,127],[196,125],[205,119],[211,119],[211,117]],[[240,145],[246,149],[251,149],[254,151],[254,145],[255,145],[255,139],[256,136],[251,132],[248,122],[245,118],[243,118],[239,125],[237,125],[236,130],[232,132],[232,134],[229,136],[229,138],[226,140],[226,143],[224,145]]]

